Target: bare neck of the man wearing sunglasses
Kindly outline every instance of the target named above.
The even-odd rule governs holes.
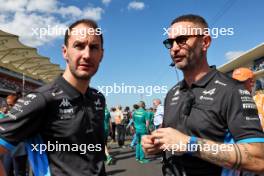
[[[183,70],[184,80],[188,86],[191,86],[191,84],[202,79],[209,71],[210,67],[207,62],[196,65],[193,69]]]

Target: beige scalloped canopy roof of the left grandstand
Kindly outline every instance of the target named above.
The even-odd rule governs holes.
[[[63,72],[57,64],[23,45],[18,36],[0,30],[0,66],[35,80],[52,81]]]

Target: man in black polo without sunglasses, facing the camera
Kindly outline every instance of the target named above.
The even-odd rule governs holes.
[[[36,176],[105,176],[105,98],[89,87],[103,52],[96,22],[73,23],[62,47],[65,72],[19,99],[0,120],[0,151],[26,141]]]

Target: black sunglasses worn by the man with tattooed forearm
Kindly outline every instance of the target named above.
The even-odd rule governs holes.
[[[186,44],[187,40],[190,37],[199,37],[199,36],[203,36],[203,35],[180,35],[176,38],[169,38],[169,39],[164,40],[163,44],[165,45],[167,49],[171,49],[173,47],[174,42],[176,42],[177,45],[182,47],[183,45]]]

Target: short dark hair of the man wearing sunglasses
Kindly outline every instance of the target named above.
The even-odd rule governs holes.
[[[194,14],[181,15],[175,18],[171,22],[171,25],[173,25],[174,23],[183,22],[183,21],[192,22],[192,23],[201,25],[203,28],[208,28],[208,23],[206,22],[206,20],[203,17],[199,15],[194,15]]]

